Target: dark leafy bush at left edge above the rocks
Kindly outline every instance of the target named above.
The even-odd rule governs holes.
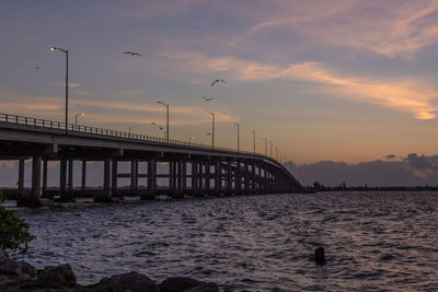
[[[4,201],[3,192],[0,191],[0,203]],[[28,224],[20,214],[0,206],[0,248],[23,254],[34,238],[28,232]]]

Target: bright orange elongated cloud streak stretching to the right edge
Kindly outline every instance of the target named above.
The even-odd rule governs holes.
[[[412,113],[418,119],[433,119],[438,110],[438,93],[416,78],[392,81],[364,77],[345,77],[320,62],[291,63],[287,67],[247,61],[233,56],[209,58],[203,54],[165,52],[180,61],[182,70],[221,72],[242,81],[299,80],[314,83],[324,94],[378,104],[399,112]],[[189,65],[189,66],[187,66]],[[318,90],[318,86],[314,86]]]

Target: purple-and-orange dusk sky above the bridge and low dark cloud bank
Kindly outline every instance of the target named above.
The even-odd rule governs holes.
[[[438,154],[438,1],[3,0],[0,24],[0,113],[64,120],[56,46],[70,122],[162,137],[161,101],[171,139],[210,143],[210,110],[216,145],[240,124],[297,164]]]

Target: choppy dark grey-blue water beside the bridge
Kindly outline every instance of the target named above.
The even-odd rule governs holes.
[[[331,192],[24,210],[27,260],[230,291],[437,291],[438,194]],[[327,264],[309,255],[324,246]]]

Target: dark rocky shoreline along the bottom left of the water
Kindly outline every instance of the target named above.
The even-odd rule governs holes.
[[[169,278],[155,283],[136,271],[103,278],[90,285],[80,285],[70,265],[36,269],[31,264],[16,261],[0,249],[0,291],[35,292],[219,292],[218,285],[185,277]]]

